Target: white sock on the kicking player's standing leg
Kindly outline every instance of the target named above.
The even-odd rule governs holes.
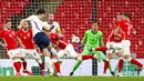
[[[51,73],[54,72],[50,57],[44,57],[44,70],[48,71],[48,69]]]

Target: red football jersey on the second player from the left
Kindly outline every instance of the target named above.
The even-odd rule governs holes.
[[[34,49],[34,42],[32,38],[32,30],[29,29],[24,31],[23,29],[20,29],[17,32],[18,37],[21,39],[21,42],[25,47],[25,49]]]

